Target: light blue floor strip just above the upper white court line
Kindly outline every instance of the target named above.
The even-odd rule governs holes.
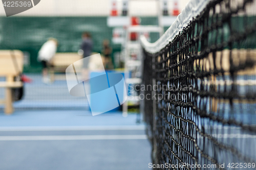
[[[12,115],[0,112],[0,128],[11,126],[120,126],[137,125],[136,114],[123,117],[121,112],[92,116],[90,111],[15,111]]]

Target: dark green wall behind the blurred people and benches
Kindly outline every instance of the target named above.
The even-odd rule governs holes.
[[[141,17],[141,25],[156,25],[156,17]],[[112,28],[106,25],[106,17],[0,17],[0,50],[17,49],[30,53],[30,66],[25,72],[38,72],[41,65],[37,53],[49,37],[59,41],[58,52],[77,52],[81,34],[92,34],[94,52],[101,52],[102,41],[111,40]],[[113,45],[113,52],[120,51]]]

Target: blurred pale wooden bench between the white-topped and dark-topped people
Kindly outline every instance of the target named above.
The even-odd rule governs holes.
[[[82,59],[77,53],[56,53],[51,61],[52,67],[50,68],[51,82],[54,82],[55,72],[65,72],[66,68],[74,62]],[[81,62],[82,67],[82,62]],[[77,70],[79,71],[79,70]]]

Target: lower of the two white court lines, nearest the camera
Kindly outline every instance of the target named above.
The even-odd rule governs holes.
[[[17,140],[118,140],[147,139],[146,135],[0,136],[0,141]]]

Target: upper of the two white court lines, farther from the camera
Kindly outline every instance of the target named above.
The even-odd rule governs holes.
[[[2,132],[10,131],[103,131],[103,130],[145,130],[145,126],[33,126],[0,127]]]

